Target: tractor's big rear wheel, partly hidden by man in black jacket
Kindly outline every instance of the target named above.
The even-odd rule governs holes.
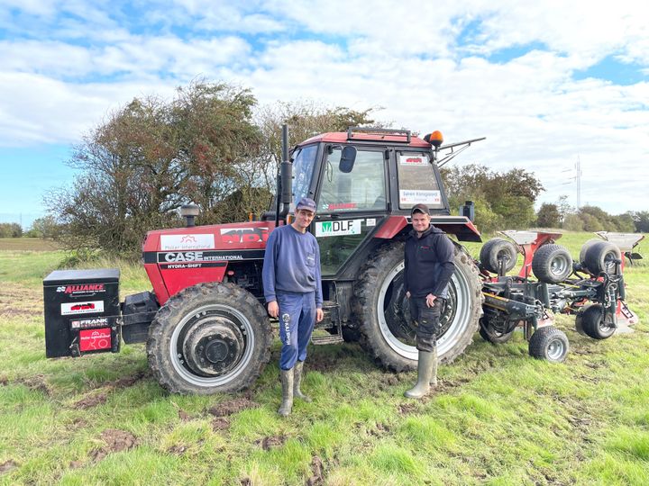
[[[354,284],[352,310],[361,322],[361,346],[394,371],[417,364],[416,333],[410,319],[403,281],[404,244],[381,247],[363,266]],[[437,353],[450,363],[471,344],[482,314],[478,268],[462,247],[455,248],[455,273],[440,319]]]

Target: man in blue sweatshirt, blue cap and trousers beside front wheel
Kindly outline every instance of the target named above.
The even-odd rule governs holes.
[[[282,403],[278,413],[282,417],[290,414],[294,396],[311,401],[300,390],[302,369],[315,321],[324,317],[320,248],[306,230],[314,216],[315,202],[300,199],[295,220],[270,233],[261,272],[269,314],[279,319]]]

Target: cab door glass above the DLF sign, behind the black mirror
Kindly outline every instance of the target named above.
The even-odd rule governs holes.
[[[378,211],[386,208],[383,152],[359,150],[352,172],[339,168],[342,148],[334,148],[324,166],[318,211]]]

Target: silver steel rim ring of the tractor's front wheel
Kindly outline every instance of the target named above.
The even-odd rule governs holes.
[[[219,315],[219,317],[230,320],[230,322],[232,322],[233,326],[236,328],[238,328],[238,326],[235,322],[233,322],[232,319],[229,318],[229,316],[233,316],[242,325],[241,332],[245,340],[245,349],[243,351],[242,357],[232,370],[221,376],[206,377],[192,373],[189,369],[187,369],[187,366],[183,364],[181,356],[178,356],[178,338],[185,329],[187,322],[208,311],[215,311]],[[233,381],[233,379],[239,376],[239,374],[242,374],[243,370],[245,370],[248,364],[251,362],[254,345],[255,337],[251,322],[244,314],[242,314],[242,312],[226,305],[210,304],[204,305],[198,308],[196,311],[187,314],[182,320],[180,320],[180,322],[178,322],[178,326],[176,326],[173,333],[171,334],[171,338],[169,339],[169,356],[171,365],[173,365],[174,370],[182,377],[182,379],[186,380],[187,383],[191,383],[196,386],[214,387],[230,383],[231,381]]]

